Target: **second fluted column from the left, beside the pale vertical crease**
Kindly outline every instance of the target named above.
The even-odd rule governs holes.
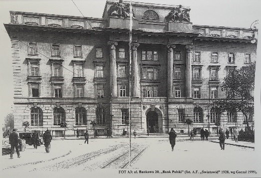
[[[132,90],[132,96],[137,97],[137,71],[138,71],[138,66],[137,66],[137,47],[140,45],[138,42],[132,43],[132,81],[133,81],[133,90]]]

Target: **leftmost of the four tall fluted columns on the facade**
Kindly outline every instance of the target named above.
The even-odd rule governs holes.
[[[117,65],[116,65],[116,45],[117,41],[108,41],[110,45],[110,84],[111,97],[117,97]]]

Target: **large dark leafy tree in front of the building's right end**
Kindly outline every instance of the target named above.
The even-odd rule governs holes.
[[[254,112],[254,73],[255,62],[240,69],[230,70],[224,78],[221,90],[226,91],[227,96],[224,99],[213,101],[220,112],[240,111],[245,117],[247,130],[250,131],[248,124],[248,113]]]

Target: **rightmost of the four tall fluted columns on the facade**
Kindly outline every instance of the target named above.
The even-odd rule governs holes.
[[[191,60],[193,45],[186,45],[186,97],[192,97],[191,89]]]

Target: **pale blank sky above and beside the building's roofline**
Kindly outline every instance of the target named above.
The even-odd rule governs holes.
[[[191,22],[197,25],[250,28],[260,19],[261,0],[135,0],[139,2],[190,6]],[[74,0],[87,17],[102,17],[106,0]],[[72,0],[0,0],[0,119],[11,112],[13,104],[13,68],[11,42],[4,23],[10,22],[9,11],[25,11],[82,16]],[[260,21],[260,20],[259,20]],[[261,21],[260,21],[261,23]],[[260,23],[256,27],[260,27]],[[258,26],[259,25],[259,26]],[[258,45],[260,48],[260,45]],[[260,50],[257,49],[257,58]],[[260,66],[260,61],[257,60]],[[257,75],[256,75],[257,76]],[[261,76],[259,74],[259,76]],[[260,108],[260,79],[256,77],[257,103]],[[259,110],[258,110],[259,111]],[[260,112],[260,111],[259,111]],[[260,118],[260,117],[259,117]]]

